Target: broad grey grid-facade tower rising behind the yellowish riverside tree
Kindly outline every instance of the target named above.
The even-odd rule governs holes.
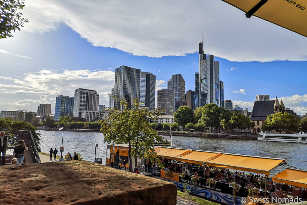
[[[118,99],[114,99],[115,108],[122,109],[119,99],[125,100],[129,106],[132,105],[132,99],[134,98],[140,101],[140,80],[140,69],[130,68],[125,65],[115,69],[114,95],[118,97]]]

